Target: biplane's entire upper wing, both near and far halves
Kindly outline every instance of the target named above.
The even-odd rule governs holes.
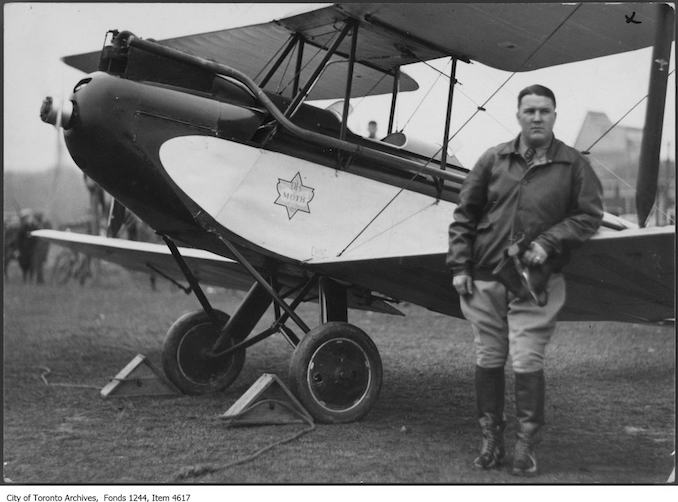
[[[257,75],[298,33],[311,45],[302,61],[301,81],[307,81],[314,69],[308,63],[318,61],[317,52],[331,45],[347,19],[354,19],[360,26],[352,96],[358,97],[390,93],[392,82],[384,78],[386,74],[402,65],[443,56],[501,70],[528,71],[647,47],[656,29],[656,5],[335,4],[270,23],[158,42]],[[350,43],[346,37],[309,99],[344,97]],[[98,67],[99,52],[67,56],[63,61],[89,73]],[[266,90],[276,91],[279,85],[270,82]],[[401,74],[401,92],[417,88],[414,80]]]

